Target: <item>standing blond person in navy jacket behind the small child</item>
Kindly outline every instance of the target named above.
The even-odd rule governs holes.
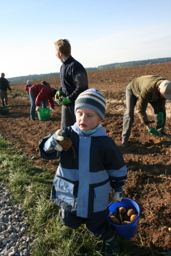
[[[71,45],[67,39],[55,42],[56,57],[62,62],[60,68],[61,86],[55,100],[62,105],[61,129],[76,122],[74,107],[78,95],[88,89],[87,72],[82,64],[71,56]]]

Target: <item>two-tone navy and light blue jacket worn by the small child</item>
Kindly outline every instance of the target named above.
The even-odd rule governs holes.
[[[83,218],[94,218],[108,210],[109,192],[120,189],[127,178],[123,157],[104,128],[85,136],[75,123],[66,127],[62,136],[72,140],[68,151],[46,152],[48,135],[39,143],[40,157],[55,160],[60,157],[51,201]]]

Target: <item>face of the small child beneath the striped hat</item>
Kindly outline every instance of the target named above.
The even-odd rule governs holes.
[[[76,123],[82,131],[89,131],[101,124],[103,120],[91,108],[80,107],[76,109]]]

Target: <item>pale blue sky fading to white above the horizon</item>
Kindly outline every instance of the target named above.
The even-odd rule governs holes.
[[[59,72],[68,39],[84,67],[171,57],[170,0],[0,0],[6,78]]]

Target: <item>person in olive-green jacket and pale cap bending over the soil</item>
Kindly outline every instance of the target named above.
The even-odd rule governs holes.
[[[138,101],[137,101],[138,100]],[[122,144],[129,147],[128,139],[134,121],[134,109],[137,104],[137,113],[146,127],[146,132],[153,136],[171,138],[164,131],[166,121],[166,100],[171,100],[171,81],[161,76],[146,75],[135,78],[126,88],[126,110],[123,120]],[[154,110],[155,128],[150,126],[146,115],[148,103]]]

